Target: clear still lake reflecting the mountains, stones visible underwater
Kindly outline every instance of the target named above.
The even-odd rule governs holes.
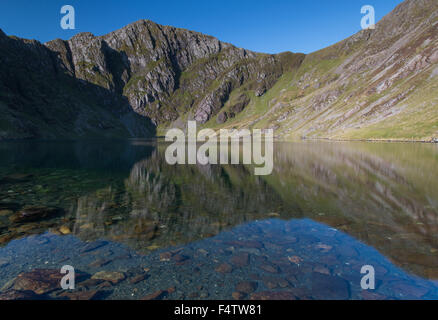
[[[278,142],[269,176],[165,148],[0,143],[0,299],[438,299],[437,145]]]

